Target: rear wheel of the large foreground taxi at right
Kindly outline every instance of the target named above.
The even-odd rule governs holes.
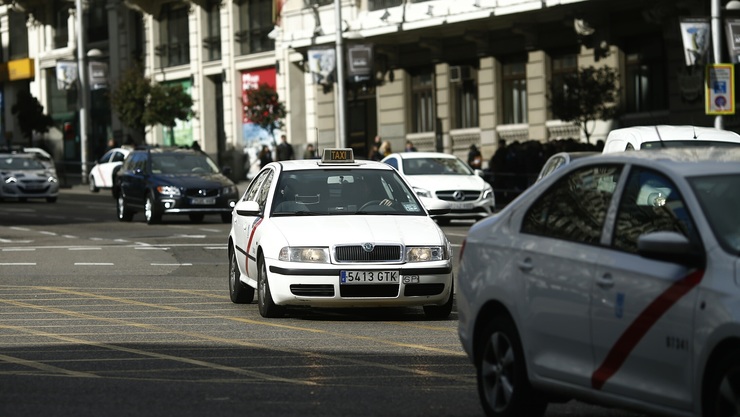
[[[478,338],[476,376],[478,396],[489,417],[540,417],[547,402],[527,379],[519,333],[512,321],[494,317]]]

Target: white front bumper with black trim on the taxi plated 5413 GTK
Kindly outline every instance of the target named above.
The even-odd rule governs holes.
[[[398,271],[397,283],[342,284],[343,270]],[[278,305],[384,307],[442,305],[452,289],[452,265],[323,265],[280,263],[268,269],[270,292]]]

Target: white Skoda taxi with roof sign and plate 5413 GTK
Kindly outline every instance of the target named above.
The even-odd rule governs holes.
[[[420,199],[389,165],[355,161],[351,149],[321,160],[266,165],[233,211],[229,292],[263,317],[287,306],[423,306],[452,310],[452,250]]]

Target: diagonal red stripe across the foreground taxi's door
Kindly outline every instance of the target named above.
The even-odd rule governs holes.
[[[675,282],[661,295],[653,300],[645,310],[637,316],[635,321],[622,333],[617,342],[606,355],[601,366],[591,375],[591,386],[601,389],[606,381],[619,371],[632,350],[642,340],[653,325],[668,311],[678,300],[696,287],[704,276],[703,270],[697,270]]]

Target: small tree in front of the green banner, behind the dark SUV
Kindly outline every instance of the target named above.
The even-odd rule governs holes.
[[[194,116],[192,107],[193,98],[181,85],[152,84],[142,120],[147,125],[161,124],[168,127],[174,138],[177,121]]]

